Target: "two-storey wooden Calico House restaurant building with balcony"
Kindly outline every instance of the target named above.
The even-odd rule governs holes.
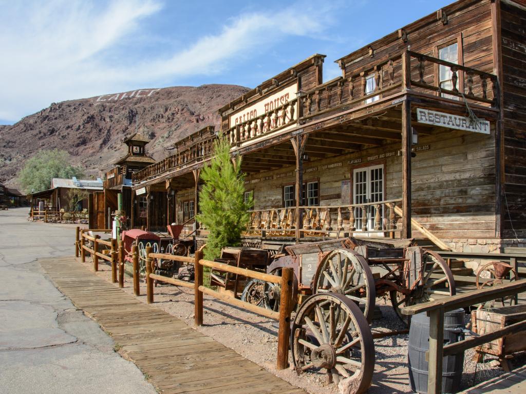
[[[242,155],[255,203],[247,234],[523,245],[524,26],[523,1],[461,0],[336,60],[338,78],[322,81],[325,56],[313,55],[227,103],[220,133]],[[198,207],[210,152],[193,141],[188,160],[133,177],[149,195],[176,190],[166,210],[179,221]]]

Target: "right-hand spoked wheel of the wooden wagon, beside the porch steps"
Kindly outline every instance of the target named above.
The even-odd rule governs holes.
[[[410,317],[402,315],[400,308],[432,301],[438,297],[452,296],[457,293],[453,273],[446,261],[436,252],[424,250],[422,253],[422,281],[409,294],[396,290],[389,292],[389,298],[395,313],[404,324],[409,326]]]

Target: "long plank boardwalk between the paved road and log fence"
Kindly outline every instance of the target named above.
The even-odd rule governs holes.
[[[59,291],[96,320],[165,394],[306,393],[164,310],[140,302],[75,257],[39,262]]]

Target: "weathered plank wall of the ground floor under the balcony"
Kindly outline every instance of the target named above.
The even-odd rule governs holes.
[[[421,136],[412,159],[412,214],[442,239],[494,237],[495,167],[494,130],[490,136],[463,131],[444,131]],[[351,195],[342,195],[342,181],[350,180],[359,167],[384,164],[385,200],[402,196],[402,162],[397,155],[368,161],[369,157],[398,151],[400,144],[371,148],[357,153],[304,163],[304,182],[319,180],[320,205],[350,204]],[[359,164],[348,160],[361,158]],[[341,167],[323,169],[339,163]],[[317,168],[316,171],[308,171]],[[254,190],[255,209],[283,206],[283,186],[294,184],[295,167],[261,172],[247,177],[246,190]],[[281,174],[286,177],[277,178]],[[265,180],[265,177],[272,179]],[[418,236],[418,233],[415,234]]]

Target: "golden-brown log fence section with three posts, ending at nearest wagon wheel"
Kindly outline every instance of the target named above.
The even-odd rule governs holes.
[[[180,281],[179,279],[169,278],[166,276],[153,274],[153,262],[155,259],[171,260],[180,263],[194,264],[195,267],[195,281],[189,283]],[[281,299],[279,305],[279,312],[259,307],[257,305],[249,304],[241,301],[233,296],[219,293],[213,289],[203,286],[203,267],[214,268],[217,271],[227,272],[231,274],[243,275],[249,278],[260,279],[261,281],[280,284]],[[198,250],[195,256],[174,256],[163,253],[152,253],[151,247],[146,248],[146,293],[148,304],[154,302],[154,280],[158,282],[169,283],[176,286],[183,286],[194,289],[194,315],[195,325],[203,325],[203,294],[221,299],[222,301],[246,309],[249,312],[256,313],[271,319],[279,321],[278,329],[278,355],[276,367],[277,369],[285,369],[288,367],[288,352],[289,352],[289,336],[290,336],[290,313],[292,312],[292,268],[283,268],[282,276],[270,275],[262,272],[251,271],[246,268],[239,268],[228,264],[217,263],[214,261],[204,260],[203,252]]]

